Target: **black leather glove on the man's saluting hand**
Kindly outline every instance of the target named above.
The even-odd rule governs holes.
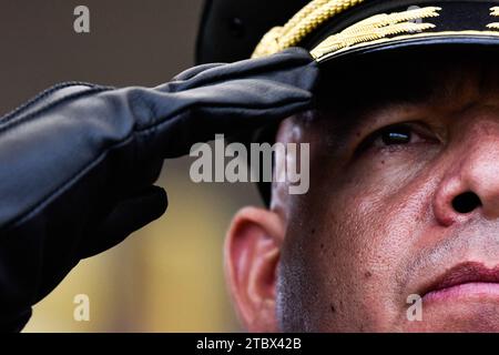
[[[0,329],[21,329],[81,258],[164,213],[163,159],[308,109],[316,78],[292,49],[153,89],[65,83],[1,118]]]

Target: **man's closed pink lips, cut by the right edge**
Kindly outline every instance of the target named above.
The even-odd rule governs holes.
[[[476,262],[458,264],[437,277],[422,295],[426,302],[459,297],[497,297],[499,300],[499,266],[488,268]]]

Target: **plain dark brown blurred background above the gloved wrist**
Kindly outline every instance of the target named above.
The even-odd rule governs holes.
[[[91,32],[73,30],[90,9]],[[6,112],[61,81],[154,85],[193,64],[201,0],[1,0]]]

